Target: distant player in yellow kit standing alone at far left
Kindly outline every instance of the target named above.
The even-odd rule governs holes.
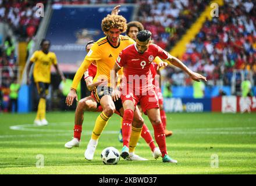
[[[54,52],[49,52],[51,42],[49,40],[41,41],[41,50],[35,51],[30,58],[29,66],[27,67],[27,84],[30,84],[29,72],[31,66],[34,63],[33,77],[37,86],[37,91],[40,96],[40,100],[37,108],[37,116],[34,120],[34,124],[38,126],[44,126],[48,124],[45,119],[46,102],[45,97],[48,94],[48,87],[51,83],[51,65],[54,65],[57,73],[65,81],[65,77],[61,70],[59,70],[57,64],[57,58]]]

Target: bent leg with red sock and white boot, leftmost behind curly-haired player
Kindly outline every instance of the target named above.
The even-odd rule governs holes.
[[[76,113],[74,114],[74,136],[73,140],[66,142],[65,147],[68,149],[73,146],[78,147],[80,145],[80,138],[82,132],[82,125],[84,121],[84,112],[97,110],[97,102],[92,96],[80,99],[76,107]]]

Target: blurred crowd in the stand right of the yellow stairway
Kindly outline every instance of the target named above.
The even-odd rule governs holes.
[[[207,76],[207,85],[232,85],[234,70],[253,73],[256,82],[255,5],[252,1],[229,1],[219,8],[219,17],[206,20],[200,33],[186,46],[183,62]],[[179,70],[165,71],[170,84],[191,85]],[[241,80],[240,76],[237,79]]]

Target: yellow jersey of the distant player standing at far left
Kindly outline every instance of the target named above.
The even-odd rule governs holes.
[[[51,65],[57,64],[54,52],[47,54],[42,51],[35,51],[30,61],[34,63],[33,76],[35,82],[51,83]]]

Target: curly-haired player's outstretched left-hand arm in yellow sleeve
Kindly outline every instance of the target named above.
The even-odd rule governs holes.
[[[76,71],[69,94],[67,94],[67,97],[66,97],[67,106],[71,106],[73,104],[74,99],[76,99],[76,101],[78,101],[77,95],[76,95],[76,88],[77,88],[81,78],[83,77],[84,72],[88,69],[88,67],[90,65],[91,65],[91,62],[89,60],[87,60],[86,58],[84,58],[83,63],[81,64],[79,69]]]

